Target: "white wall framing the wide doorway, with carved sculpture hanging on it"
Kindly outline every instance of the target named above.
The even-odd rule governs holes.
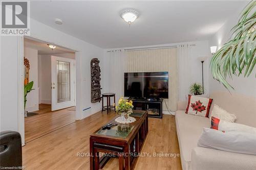
[[[99,58],[102,61],[103,49],[73,36],[48,27],[31,18],[31,36],[59,46],[65,46],[76,52],[76,118],[87,117],[101,109],[100,103],[91,103],[90,61]],[[18,129],[18,37],[1,37],[1,131],[14,130],[24,132],[24,125]],[[106,69],[100,63],[101,70]],[[10,69],[11,68],[11,69]],[[106,85],[102,81],[102,87]],[[22,85],[21,85],[22,86]],[[20,96],[22,99],[23,96]],[[91,109],[82,112],[84,108]],[[24,141],[24,139],[23,139]]]

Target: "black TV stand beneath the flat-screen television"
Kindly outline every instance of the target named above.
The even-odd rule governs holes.
[[[133,101],[134,110],[147,110],[148,117],[162,118],[163,99],[148,100],[130,98]]]

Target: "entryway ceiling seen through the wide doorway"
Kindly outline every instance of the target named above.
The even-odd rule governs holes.
[[[64,53],[74,53],[73,51],[67,50],[56,46],[53,50],[47,45],[47,43],[42,43],[34,41],[28,38],[24,38],[24,46],[38,50],[38,55],[54,55],[54,54],[64,54]]]

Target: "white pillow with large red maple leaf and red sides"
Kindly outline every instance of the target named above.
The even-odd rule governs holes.
[[[212,99],[189,94],[186,113],[197,116],[209,117],[211,103]]]

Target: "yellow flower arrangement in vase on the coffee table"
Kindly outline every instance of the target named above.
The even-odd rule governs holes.
[[[123,120],[127,120],[129,115],[133,112],[133,101],[123,98],[119,99],[118,105],[116,106],[116,111],[117,114],[121,114]]]

